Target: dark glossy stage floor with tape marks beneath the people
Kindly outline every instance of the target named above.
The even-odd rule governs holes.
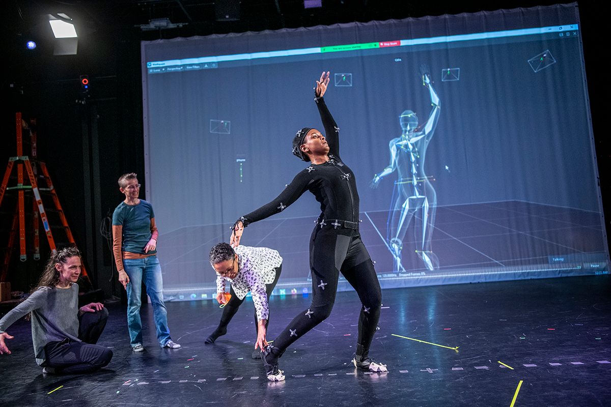
[[[203,339],[221,315],[213,301],[167,304],[178,350],[155,341],[152,308],[142,308],[147,351],[129,346],[125,308],[109,306],[100,344],[106,369],[91,375],[42,375],[29,322],[9,333],[0,356],[4,406],[608,406],[611,400],[611,277],[582,276],[382,291],[371,356],[385,374],[350,364],[359,300],[337,295],[331,317],[280,359],[287,380],[271,383],[254,346],[252,301],[243,304],[216,344]],[[310,298],[275,296],[269,338]],[[458,353],[397,334],[433,342]],[[513,369],[503,366],[510,366]],[[63,387],[60,387],[63,386]],[[58,389],[59,387],[59,389]],[[54,391],[55,390],[55,391]]]

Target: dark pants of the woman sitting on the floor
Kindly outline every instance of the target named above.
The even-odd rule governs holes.
[[[64,339],[45,345],[45,367],[53,367],[57,373],[80,374],[95,372],[108,365],[112,359],[109,348],[95,345],[106,326],[108,310],[85,312],[79,317],[78,337],[82,342]]]

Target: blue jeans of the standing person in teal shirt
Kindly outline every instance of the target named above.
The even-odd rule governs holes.
[[[130,278],[127,284],[127,328],[130,331],[131,346],[142,344],[142,321],[140,319],[140,297],[142,278],[147,287],[148,297],[153,304],[153,317],[157,330],[157,340],[163,346],[170,340],[167,326],[166,304],[163,303],[163,280],[157,256],[144,259],[123,259],[123,268]]]

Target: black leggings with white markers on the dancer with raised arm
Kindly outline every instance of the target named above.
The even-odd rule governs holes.
[[[273,353],[281,356],[295,340],[331,314],[340,272],[354,287],[363,305],[360,308],[357,344],[368,351],[378,327],[382,292],[373,262],[360,236],[343,236],[335,234],[332,229],[314,229],[310,239],[310,270],[312,304],[300,312],[274,340]]]

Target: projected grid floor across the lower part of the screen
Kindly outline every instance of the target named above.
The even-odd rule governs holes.
[[[388,211],[375,211],[361,212],[360,216],[360,233],[378,273],[395,268],[386,243],[388,215]],[[314,217],[270,218],[247,228],[242,244],[278,250],[284,259],[283,270],[290,269],[291,276],[305,279],[309,275],[308,242],[314,222]],[[422,221],[412,218],[403,240],[401,263],[405,272],[426,270],[413,254],[415,222]],[[597,212],[524,201],[440,206],[431,245],[440,270],[446,271],[549,264],[549,256],[585,253],[604,260],[606,240],[601,225]],[[189,226],[162,234],[159,258],[164,275],[172,275],[166,286],[193,281],[214,284],[208,251],[214,244],[227,241],[229,234],[227,225]]]

